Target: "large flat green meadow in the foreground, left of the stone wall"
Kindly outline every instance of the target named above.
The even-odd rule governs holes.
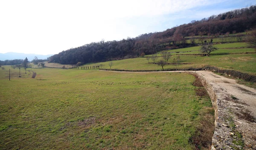
[[[145,58],[144,58],[145,59]],[[144,60],[143,59],[143,60]],[[212,107],[179,73],[0,70],[0,149],[186,149]],[[213,116],[212,116],[213,117]]]

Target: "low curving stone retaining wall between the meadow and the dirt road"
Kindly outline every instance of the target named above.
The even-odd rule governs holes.
[[[212,136],[211,150],[242,149],[243,146],[234,144],[234,141],[237,141],[238,139],[236,136],[233,136],[236,132],[235,127],[233,127],[233,120],[230,117],[233,114],[226,106],[227,103],[224,100],[226,95],[221,92],[223,90],[211,81],[207,81],[202,74],[198,74],[196,71],[188,73],[198,76],[211,98],[212,107],[215,109],[215,131]]]

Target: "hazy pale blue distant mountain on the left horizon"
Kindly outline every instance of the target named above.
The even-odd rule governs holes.
[[[24,53],[9,52],[5,54],[0,53],[0,60],[25,59],[27,57],[29,61],[32,61],[35,58],[35,56],[38,57],[38,59],[47,59],[47,57],[50,57],[52,55],[53,54],[38,55],[38,54],[24,54]]]

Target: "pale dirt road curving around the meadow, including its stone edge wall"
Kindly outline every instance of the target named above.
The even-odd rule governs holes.
[[[188,72],[201,77],[201,82],[204,82],[203,85],[215,108],[212,150],[234,150],[234,147],[256,150],[256,89],[239,85],[235,79],[228,79],[210,71],[157,71],[156,73],[161,72]]]

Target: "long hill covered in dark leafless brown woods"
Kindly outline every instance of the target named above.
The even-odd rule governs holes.
[[[256,27],[256,6],[236,9],[223,14],[212,15],[202,20],[193,20],[163,32],[142,34],[120,41],[92,42],[71,48],[49,57],[49,62],[76,64],[77,62],[103,62],[107,60],[134,58],[169,48],[183,48],[195,45],[189,39],[223,38],[230,33],[248,31]],[[199,37],[195,37],[199,36]],[[204,37],[208,36],[208,37]],[[242,36],[242,35],[238,35]],[[241,40],[241,39],[240,39]]]

